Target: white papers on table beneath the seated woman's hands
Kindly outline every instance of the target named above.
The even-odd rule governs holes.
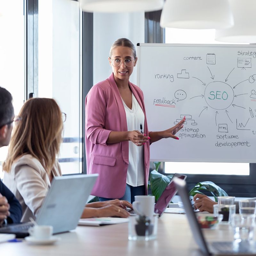
[[[128,218],[115,218],[115,217],[87,218],[87,219],[80,219],[78,221],[78,225],[103,226],[103,225],[125,223],[128,221],[129,221]]]

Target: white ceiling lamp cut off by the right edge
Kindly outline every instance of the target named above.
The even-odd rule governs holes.
[[[234,26],[218,29],[215,40],[228,43],[256,43],[256,1],[231,0],[230,7],[234,16]]]

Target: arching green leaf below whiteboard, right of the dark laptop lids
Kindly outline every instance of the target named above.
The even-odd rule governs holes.
[[[209,191],[214,196],[215,202],[218,202],[218,196],[228,196],[227,192],[220,188],[212,181],[204,181],[196,184],[194,188],[189,191],[189,196],[195,196],[197,193],[204,195],[202,191]]]

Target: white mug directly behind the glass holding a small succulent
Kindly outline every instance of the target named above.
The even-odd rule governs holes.
[[[155,196],[135,196],[132,203],[134,212],[138,215],[152,217],[155,208]]]

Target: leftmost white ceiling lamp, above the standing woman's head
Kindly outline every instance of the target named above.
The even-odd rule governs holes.
[[[164,0],[79,0],[84,12],[150,12],[161,10]]]

